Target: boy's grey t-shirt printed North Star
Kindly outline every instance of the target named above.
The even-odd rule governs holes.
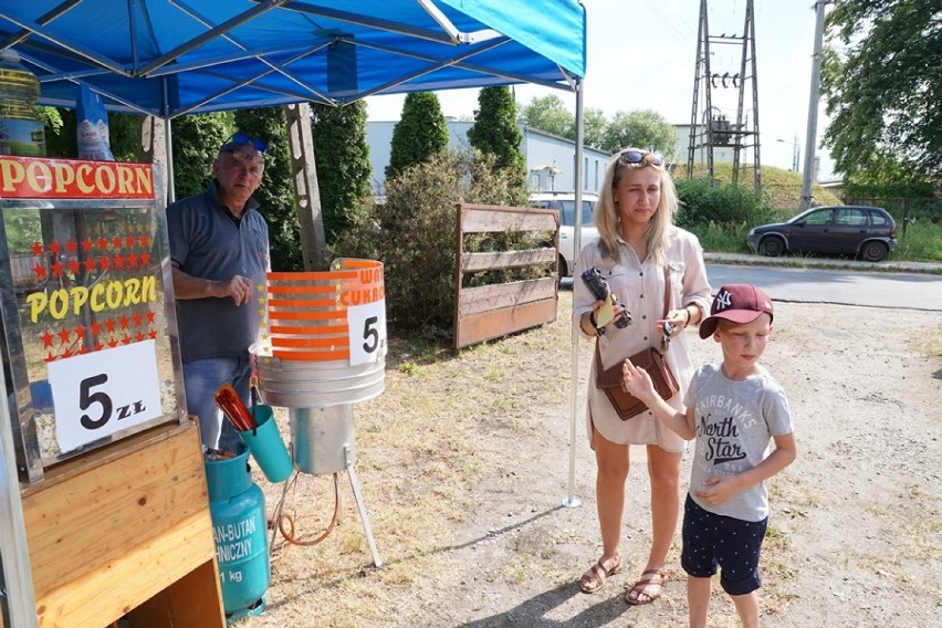
[[[729,379],[719,364],[701,366],[693,374],[684,405],[693,408],[697,428],[690,496],[710,512],[742,521],[768,516],[765,482],[750,486],[718,506],[693,494],[718,475],[737,475],[765,459],[772,437],[792,432],[788,399],[762,367],[755,377]]]

